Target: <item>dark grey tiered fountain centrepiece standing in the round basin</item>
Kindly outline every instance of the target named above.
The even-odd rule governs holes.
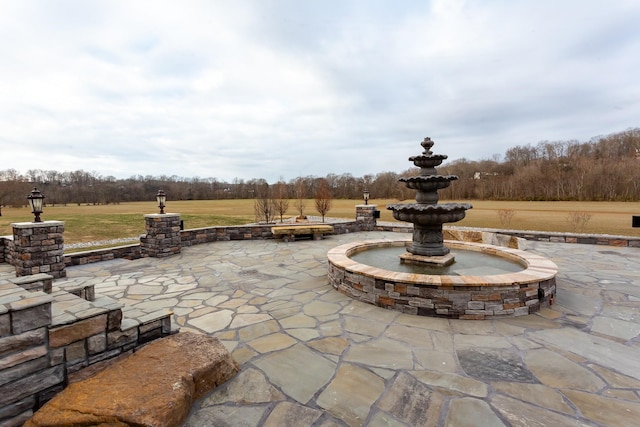
[[[455,258],[444,245],[442,224],[460,221],[468,203],[438,204],[438,190],[447,188],[455,175],[438,175],[436,166],[447,158],[444,154],[433,154],[433,141],[427,137],[420,143],[424,151],[409,160],[420,168],[420,174],[411,178],[402,178],[407,188],[417,190],[416,203],[391,204],[387,209],[393,211],[393,217],[399,221],[413,223],[413,243],[407,247],[407,253],[400,258],[405,263],[425,263],[439,266],[450,265]]]

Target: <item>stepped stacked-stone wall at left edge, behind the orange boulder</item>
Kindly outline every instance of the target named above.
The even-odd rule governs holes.
[[[123,319],[121,305],[93,288],[52,282],[42,273],[0,280],[1,426],[22,425],[85,368],[172,333],[170,311]]]

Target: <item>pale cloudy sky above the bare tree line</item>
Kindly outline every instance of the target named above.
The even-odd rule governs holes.
[[[0,9],[0,170],[363,176],[640,126],[637,0]]]

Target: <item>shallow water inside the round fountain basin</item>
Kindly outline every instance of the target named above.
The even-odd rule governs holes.
[[[456,261],[447,267],[402,264],[400,263],[399,257],[405,252],[406,249],[402,246],[372,248],[352,254],[350,258],[372,267],[413,274],[491,276],[524,270],[522,265],[506,258],[483,252],[465,250],[451,250],[451,253],[456,257]]]

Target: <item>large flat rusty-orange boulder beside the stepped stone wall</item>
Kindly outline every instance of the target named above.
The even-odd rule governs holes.
[[[218,339],[171,335],[69,385],[25,426],[178,426],[196,399],[239,370]]]

